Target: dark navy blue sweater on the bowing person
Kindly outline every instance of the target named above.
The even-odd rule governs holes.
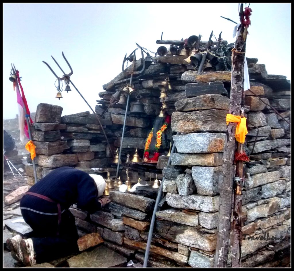
[[[101,208],[98,191],[88,173],[71,167],[56,168],[34,184],[29,192],[44,195],[59,202],[61,210],[76,203],[77,208],[94,213]],[[56,213],[57,205],[33,195],[24,195],[20,207],[44,213]]]

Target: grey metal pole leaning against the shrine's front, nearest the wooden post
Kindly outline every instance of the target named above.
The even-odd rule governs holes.
[[[179,132],[177,132],[177,135],[178,134],[179,134]],[[171,155],[172,155],[172,153],[175,152],[175,149],[176,149],[176,145],[175,145],[175,143],[173,143],[173,147],[171,149]],[[169,165],[170,163],[171,163],[171,156],[168,158],[167,165]],[[162,186],[163,186],[164,180],[165,180],[165,177],[162,178],[161,184],[158,188],[158,194],[157,194],[157,198],[156,198],[156,202],[155,202],[155,206],[154,206],[153,214],[152,214],[152,218],[151,218],[151,223],[150,223],[150,229],[149,229],[149,234],[148,234],[148,240],[147,240],[147,245],[146,245],[143,267],[147,267],[147,263],[148,263],[148,256],[149,256],[149,250],[150,250],[150,245],[151,245],[151,240],[152,240],[153,227],[154,227],[154,223],[155,223],[155,217],[156,217],[156,212],[158,209],[158,204],[159,204],[161,194],[162,194]]]

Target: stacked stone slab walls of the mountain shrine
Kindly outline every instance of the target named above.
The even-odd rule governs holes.
[[[249,133],[244,148],[250,162],[244,163],[242,265],[286,266],[290,261],[290,83],[285,76],[268,75],[265,66],[256,61],[248,59],[250,90],[260,99],[245,91]],[[171,165],[166,165],[167,151],[159,157],[157,166],[142,170],[142,165],[131,164],[132,182],[138,177],[155,178],[156,173],[160,180],[166,178],[148,266],[213,267],[231,72],[196,72],[189,65],[166,64],[155,63],[140,77],[134,77],[134,88],[143,96],[146,115],[128,115],[122,160],[124,163],[126,154],[136,148],[143,150],[159,113],[157,86],[168,72],[173,90],[166,103],[177,151],[171,155]],[[101,121],[113,149],[120,146],[125,111],[119,104],[108,105],[112,94],[127,83],[124,76],[119,74],[103,86],[100,105],[95,108],[103,116]],[[131,97],[131,104],[134,101]],[[91,168],[112,166],[116,170],[93,114],[61,117],[58,112],[56,122],[38,122],[36,118],[34,124],[38,176],[42,178],[62,165],[89,173]],[[142,151],[139,154],[142,157]],[[30,174],[33,179],[32,171]],[[70,210],[76,225],[83,232],[100,233],[106,246],[143,263],[156,194],[141,194],[137,188],[136,193],[111,190],[109,197],[112,202],[94,214],[73,205]]]

